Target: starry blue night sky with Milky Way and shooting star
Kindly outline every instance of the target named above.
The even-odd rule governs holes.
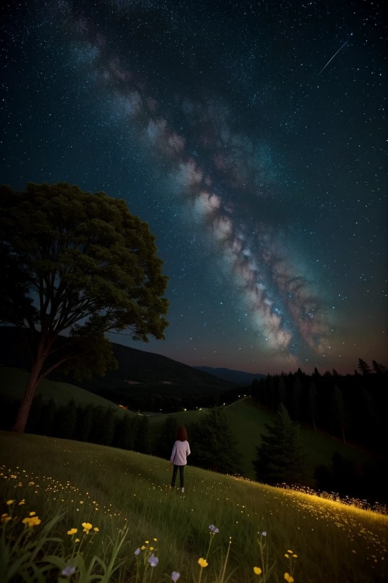
[[[1,182],[104,190],[156,234],[166,340],[112,340],[387,364],[382,1],[9,2],[0,27]]]

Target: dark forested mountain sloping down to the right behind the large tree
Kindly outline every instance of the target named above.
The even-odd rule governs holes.
[[[64,337],[59,337],[66,342]],[[113,343],[113,352],[118,360],[117,370],[108,371],[105,377],[97,375],[91,381],[76,381],[72,377],[53,373],[49,378],[70,382],[91,392],[156,392],[158,394],[208,394],[216,395],[235,388],[231,381],[215,377],[168,359],[161,354],[137,350]],[[0,365],[29,370],[30,359],[22,333],[12,326],[0,326]]]

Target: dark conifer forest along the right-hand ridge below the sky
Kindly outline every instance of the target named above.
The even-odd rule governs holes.
[[[354,375],[342,376],[335,370],[312,375],[297,373],[268,375],[252,382],[252,397],[276,412],[280,404],[291,419],[322,430],[343,442],[354,442],[373,451],[385,449],[388,405],[388,373],[373,361],[373,370],[359,359]]]

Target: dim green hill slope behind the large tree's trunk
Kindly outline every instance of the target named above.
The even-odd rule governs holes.
[[[18,368],[0,367],[0,394],[17,399],[22,398],[28,377],[29,374],[26,371],[19,370]],[[104,408],[110,407],[116,410],[120,416],[136,415],[136,413],[127,411],[107,399],[94,395],[75,385],[70,385],[67,382],[55,382],[44,379],[37,388],[36,394],[42,395],[43,401],[49,401],[53,398],[57,405],[67,405],[71,399],[74,399],[77,405],[84,406],[91,404],[96,407],[101,405]]]

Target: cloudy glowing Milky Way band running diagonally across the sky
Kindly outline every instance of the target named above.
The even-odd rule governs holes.
[[[70,2],[48,2],[40,12],[43,26],[51,26],[54,31],[56,40],[52,42],[56,43],[56,50],[60,47],[66,70],[74,73],[74,86],[84,78],[91,91],[89,115],[98,117],[103,111],[107,131],[110,127],[114,134],[115,128],[119,128],[120,135],[130,136],[132,151],[137,148],[153,168],[154,175],[162,177],[163,200],[195,237],[197,253],[202,248],[207,254],[213,275],[229,289],[233,300],[228,309],[237,316],[244,315],[244,329],[248,329],[252,352],[261,352],[267,362],[272,359],[277,367],[285,369],[293,369],[307,360],[321,362],[320,359],[334,352],[336,357],[340,356],[339,344],[344,342],[340,342],[339,329],[343,324],[333,315],[337,300],[333,297],[330,278],[322,276],[322,269],[314,266],[307,239],[300,241],[292,228],[300,223],[297,214],[303,206],[290,198],[290,192],[298,188],[300,173],[297,171],[293,176],[286,164],[284,167],[279,164],[281,156],[273,154],[276,144],[265,132],[265,127],[269,127],[265,121],[265,103],[271,100],[268,75],[266,82],[263,80],[262,86],[251,92],[254,109],[250,117],[253,121],[256,112],[262,117],[261,135],[250,131],[249,118],[248,123],[239,123],[243,115],[236,114],[236,110],[247,106],[236,101],[236,79],[233,79],[236,66],[228,65],[233,73],[231,79],[225,76],[225,82],[234,86],[234,93],[218,88],[215,83],[206,89],[209,84],[202,78],[198,65],[193,80],[188,80],[185,86],[183,80],[177,80],[173,64],[163,65],[161,56],[153,52],[147,57],[144,49],[140,57],[132,55],[123,41],[125,23],[131,23],[130,34],[133,34],[133,22],[146,19],[150,13],[154,15],[149,30],[152,36],[152,27],[157,27],[158,5],[118,1],[109,2],[108,6],[104,9],[105,19],[111,19],[109,26],[102,24],[104,19],[98,17],[97,9],[84,10],[81,3],[77,6]],[[170,10],[169,34],[174,34],[179,24],[175,22],[173,5],[166,4],[159,10],[163,16]],[[268,12],[267,5],[265,10]],[[219,15],[223,15],[222,10]],[[156,28],[154,31],[157,34]],[[259,36],[259,27],[255,34]],[[187,30],[187,37],[190,35],[197,35],[193,27]],[[231,42],[237,43],[237,39]],[[192,50],[200,50],[199,45],[200,40],[193,41]],[[231,54],[226,51],[225,62]],[[154,58],[161,64],[155,66]],[[251,66],[247,54],[244,58],[243,79]],[[187,47],[184,59],[188,66]],[[284,64],[287,61],[289,54],[285,53]],[[244,83],[248,86],[249,79]],[[274,100],[278,94],[279,89],[273,92]],[[292,98],[291,90],[284,92],[284,99]],[[261,103],[257,103],[260,99]],[[305,90],[303,99],[311,99]],[[284,111],[279,109],[278,119],[271,124],[279,127],[296,124],[301,103],[302,99],[293,106],[292,122],[285,121],[287,104]],[[74,107],[77,106],[74,99]],[[110,157],[117,155],[117,152],[109,153]],[[128,167],[129,180],[133,175],[133,166]],[[106,190],[116,195],[114,181],[112,190]],[[307,205],[310,204],[309,201]],[[317,204],[315,199],[314,206]],[[129,205],[131,208],[130,197]],[[290,220],[293,212],[294,219]],[[306,221],[312,222],[313,218],[309,213]],[[308,230],[308,227],[304,229]],[[198,278],[201,279],[201,273]],[[173,310],[174,298],[169,299]],[[173,330],[170,340],[171,335]],[[223,340],[219,342],[217,349],[222,354]],[[260,362],[258,358],[254,368]],[[220,361],[216,364],[227,366]]]

